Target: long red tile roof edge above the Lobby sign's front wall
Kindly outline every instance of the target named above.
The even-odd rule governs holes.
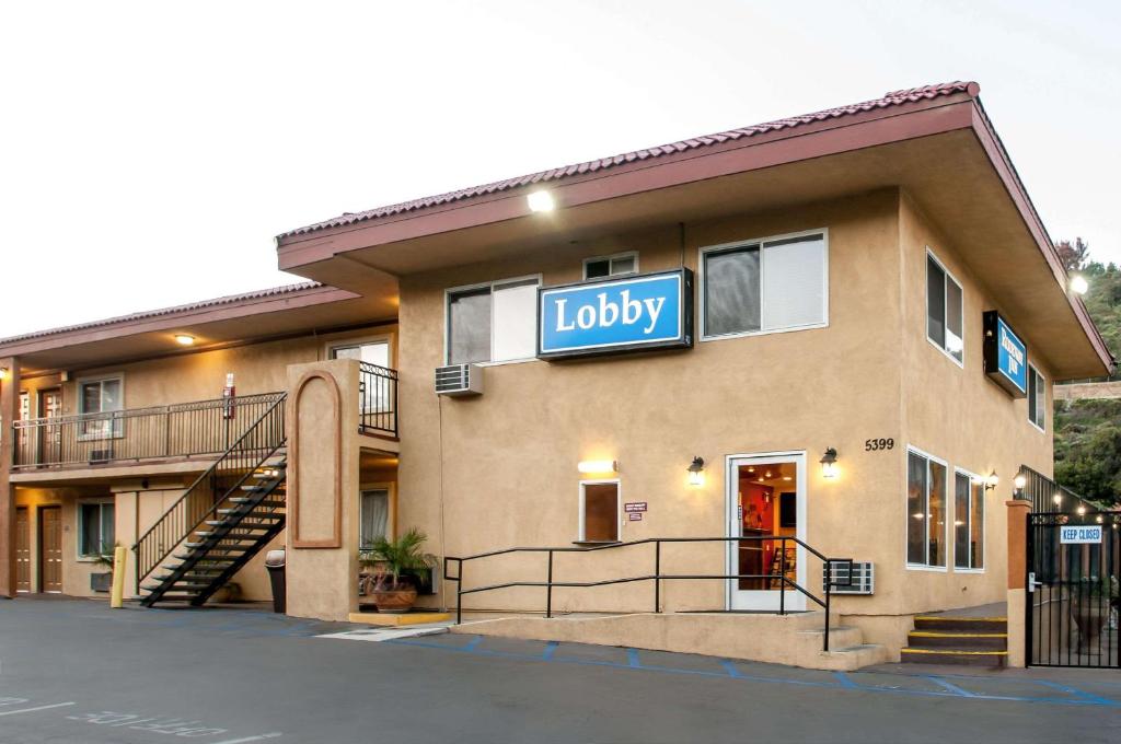
[[[808,124],[815,121],[839,119],[841,117],[847,117],[863,111],[871,111],[873,109],[886,109],[889,106],[901,105],[905,103],[915,103],[926,99],[936,99],[944,95],[953,95],[954,93],[969,93],[971,96],[975,97],[979,91],[980,86],[976,83],[961,82],[961,81],[953,83],[942,83],[938,85],[924,85],[921,87],[911,87],[905,91],[892,91],[890,93],[886,93],[883,97],[874,99],[872,101],[864,101],[863,103],[853,103],[845,106],[839,106],[836,109],[826,109],[825,111],[817,111],[814,113],[802,114],[799,117],[790,117],[788,119],[779,119],[777,121],[769,121],[762,124],[743,127],[741,129],[732,129],[726,132],[717,132],[715,134],[706,134],[704,137],[694,137],[692,139],[682,140],[680,142],[671,142],[669,145],[661,145],[658,147],[647,148],[645,150],[624,152],[622,155],[617,155],[610,158],[600,158],[597,160],[589,160],[587,162],[577,162],[576,165],[564,166],[560,168],[553,168],[550,170],[541,170],[540,173],[529,174],[527,176],[518,176],[516,178],[507,178],[506,180],[497,180],[491,184],[483,184],[482,186],[461,188],[460,190],[456,192],[437,194],[436,196],[426,196],[424,198],[413,199],[411,202],[401,202],[400,204],[391,204],[389,206],[381,206],[374,210],[367,210],[364,212],[353,212],[353,213],[346,212],[332,220],[325,220],[323,222],[316,222],[315,224],[306,225],[304,227],[289,230],[288,232],[281,233],[279,238],[289,238],[293,235],[306,234],[315,232],[317,230],[325,230],[327,227],[340,227],[343,225],[351,225],[356,222],[364,222],[367,220],[377,220],[379,217],[388,217],[395,214],[402,214],[405,212],[415,212],[417,210],[438,206],[441,204],[447,204],[451,202],[458,202],[475,196],[485,196],[488,194],[495,194],[498,192],[504,192],[512,188],[521,188],[525,186],[532,186],[535,184],[555,182],[566,178],[568,176],[576,176],[585,173],[594,173],[596,170],[603,170],[605,168],[612,168],[628,162],[634,162],[637,160],[659,158],[667,155],[684,152],[687,150],[696,150],[710,147],[712,145],[726,142],[730,140],[738,140],[741,138],[752,137],[754,134],[761,134],[763,132],[770,132],[779,129],[790,129],[793,127],[800,127],[803,124]]]

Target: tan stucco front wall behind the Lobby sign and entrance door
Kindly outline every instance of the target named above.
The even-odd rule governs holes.
[[[700,342],[691,351],[568,363],[526,362],[485,370],[485,392],[439,399],[432,370],[443,363],[444,290],[540,272],[545,285],[581,278],[581,260],[639,250],[641,271],[696,269],[701,247],[766,235],[828,230],[828,327]],[[434,551],[465,555],[511,546],[567,546],[577,536],[577,462],[618,459],[623,501],[646,501],[640,522],[622,537],[726,534],[724,458],[732,454],[805,450],[808,539],[826,554],[880,559],[898,511],[901,458],[869,455],[863,441],[899,440],[898,197],[876,193],[684,227],[557,245],[520,261],[479,264],[401,280],[402,424],[399,524],[433,537]],[[841,455],[842,476],[824,482],[817,459]],[[695,455],[706,484],[686,484]],[[900,538],[901,539],[901,538]],[[581,579],[650,573],[651,549],[558,558],[557,577]],[[679,547],[664,570],[723,570],[719,546]],[[507,566],[499,564],[506,562]],[[809,584],[819,585],[819,565]],[[469,564],[473,583],[544,578],[544,558]],[[454,586],[445,587],[454,589]],[[540,589],[479,595],[479,607],[541,608]],[[649,584],[559,590],[562,610],[645,610]],[[846,606],[890,612],[884,597],[846,598]],[[448,602],[454,596],[448,594]],[[722,608],[722,582],[667,583],[670,610]]]

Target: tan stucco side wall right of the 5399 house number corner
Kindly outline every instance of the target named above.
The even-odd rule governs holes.
[[[901,201],[900,250],[904,257],[905,322],[900,326],[904,362],[904,418],[901,440],[946,461],[948,477],[955,467],[985,476],[995,471],[1000,485],[985,492],[985,566],[983,573],[953,567],[953,533],[948,533],[944,571],[905,570],[881,574],[878,585],[901,612],[924,612],[1002,602],[1007,594],[1007,509],[1012,478],[1020,465],[1045,475],[1053,471],[1051,374],[1045,360],[1032,353],[1031,328],[1006,317],[1028,346],[1028,361],[1047,380],[1046,433],[1028,421],[1027,400],[1013,400],[984,375],[982,313],[1002,310],[989,292],[984,277],[971,271],[946,230],[930,223],[909,199]],[[964,359],[961,366],[926,337],[927,249],[962,285],[964,296]],[[906,448],[897,453],[906,468]],[[953,481],[947,503],[953,504]],[[900,489],[890,509],[896,523],[906,520],[906,491]],[[952,526],[951,526],[952,527]],[[882,548],[889,565],[906,564],[902,528]],[[893,577],[892,577],[893,576]],[[892,578],[889,578],[892,577]]]

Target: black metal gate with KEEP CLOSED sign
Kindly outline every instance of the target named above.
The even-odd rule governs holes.
[[[1121,669],[1121,513],[1028,515],[1027,660]]]

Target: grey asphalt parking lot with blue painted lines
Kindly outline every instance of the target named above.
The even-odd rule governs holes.
[[[380,642],[371,642],[380,641]],[[1121,676],[803,670],[395,638],[258,610],[0,603],[0,742],[1115,742]]]

